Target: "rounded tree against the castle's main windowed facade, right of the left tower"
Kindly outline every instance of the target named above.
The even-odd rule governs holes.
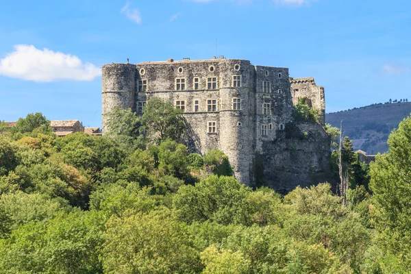
[[[171,139],[179,141],[187,129],[183,112],[169,101],[153,97],[147,101],[142,121],[157,141]]]

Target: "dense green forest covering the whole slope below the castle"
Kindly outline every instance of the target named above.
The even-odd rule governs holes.
[[[371,166],[344,140],[343,203],[244,186],[222,151],[188,153],[180,110],[145,108],[103,137],[0,123],[0,273],[410,273],[410,117]]]

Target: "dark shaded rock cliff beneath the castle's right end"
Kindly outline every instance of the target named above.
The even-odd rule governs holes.
[[[273,141],[256,155],[256,183],[285,195],[297,186],[326,182],[330,138],[316,123],[288,123]]]

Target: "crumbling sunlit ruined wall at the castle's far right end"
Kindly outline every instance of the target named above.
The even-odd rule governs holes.
[[[301,97],[307,97],[312,108],[321,111],[321,124],[325,125],[325,92],[322,86],[316,86],[314,78],[290,78],[292,103],[298,103]]]

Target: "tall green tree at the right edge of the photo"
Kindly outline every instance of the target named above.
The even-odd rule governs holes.
[[[371,164],[370,188],[375,205],[375,227],[382,249],[398,256],[411,271],[411,117],[388,138],[388,153]]]

